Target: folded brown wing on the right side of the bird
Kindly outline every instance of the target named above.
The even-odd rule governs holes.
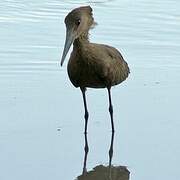
[[[92,44],[90,48],[93,69],[97,76],[108,84],[117,84],[126,79],[129,67],[121,53],[114,47]]]

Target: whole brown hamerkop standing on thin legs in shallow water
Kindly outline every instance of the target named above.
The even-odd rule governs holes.
[[[129,74],[128,64],[114,47],[89,42],[89,29],[95,22],[90,6],[72,10],[65,18],[66,40],[61,66],[73,43],[68,62],[68,75],[75,87],[80,87],[85,108],[85,133],[89,113],[86,103],[86,88],[107,88],[112,132],[114,132],[111,87],[123,82]]]

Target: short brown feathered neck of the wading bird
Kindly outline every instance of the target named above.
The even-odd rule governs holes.
[[[83,46],[89,44],[89,34],[88,32],[82,33],[77,39],[74,41],[74,48],[81,49]]]

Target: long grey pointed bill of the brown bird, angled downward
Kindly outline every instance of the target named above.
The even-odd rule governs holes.
[[[66,30],[66,41],[65,41],[65,44],[64,44],[64,50],[63,50],[63,55],[62,55],[62,58],[61,58],[61,66],[63,65],[63,62],[66,58],[66,55],[73,43],[75,39],[75,36],[74,36],[74,33],[72,30]]]

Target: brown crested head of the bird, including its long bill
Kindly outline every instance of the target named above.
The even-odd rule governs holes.
[[[73,9],[66,16],[64,22],[66,24],[66,40],[61,66],[74,40],[79,38],[82,34],[88,33],[89,29],[94,25],[92,8],[90,6],[83,6]]]

